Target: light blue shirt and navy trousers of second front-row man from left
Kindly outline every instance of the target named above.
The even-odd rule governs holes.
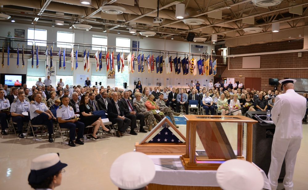
[[[22,114],[22,112],[30,111],[30,103],[26,100],[21,102],[19,99],[12,103],[10,112],[14,112],[17,114]],[[17,123],[17,130],[19,132],[22,131],[22,123],[29,121],[29,117],[21,117],[21,116],[12,116],[12,121]]]

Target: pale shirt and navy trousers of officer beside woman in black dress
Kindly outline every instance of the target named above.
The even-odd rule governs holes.
[[[73,115],[75,115],[74,109],[70,105],[67,105],[67,107],[65,105],[62,105],[57,109],[57,117],[61,117],[61,119],[70,120],[70,117]],[[80,139],[83,137],[84,123],[80,121],[77,121],[75,123],[71,123],[71,122],[59,123],[59,126],[61,128],[70,129],[70,140],[75,140],[76,128],[78,128],[77,139]]]

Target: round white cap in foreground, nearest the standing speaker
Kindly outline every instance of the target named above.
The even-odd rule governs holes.
[[[227,160],[221,164],[216,179],[224,190],[261,190],[264,186],[261,171],[252,163],[240,159]]]

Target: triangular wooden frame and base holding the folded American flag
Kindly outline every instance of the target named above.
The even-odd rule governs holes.
[[[183,143],[148,143],[146,142],[159,128],[167,122],[174,131],[180,135],[185,141]],[[136,152],[143,152],[145,154],[159,154],[159,155],[183,155],[186,151],[186,138],[176,129],[176,127],[164,117],[150,133],[148,133],[139,143],[135,143]]]

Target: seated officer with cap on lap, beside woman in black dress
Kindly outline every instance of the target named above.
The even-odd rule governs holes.
[[[76,146],[75,143],[83,144],[83,142],[80,141],[80,138],[83,137],[84,124],[80,121],[70,119],[70,117],[75,115],[75,113],[73,107],[68,105],[68,102],[69,98],[67,96],[63,96],[63,105],[57,109],[57,118],[61,128],[70,129],[70,140],[68,141],[68,145],[74,147]],[[78,128],[77,139],[75,137],[76,128]],[[74,143],[73,140],[75,139],[76,141]]]

